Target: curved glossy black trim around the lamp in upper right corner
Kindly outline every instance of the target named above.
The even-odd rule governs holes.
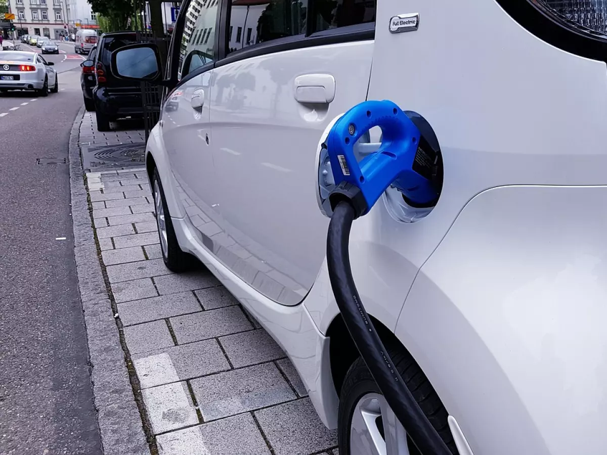
[[[558,18],[548,5],[531,0],[496,0],[500,7],[527,32],[542,41],[582,57],[607,62],[607,39],[592,36],[582,27]]]

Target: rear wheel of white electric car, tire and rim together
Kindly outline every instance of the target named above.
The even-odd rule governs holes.
[[[453,454],[447,409],[424,372],[409,352],[390,351],[405,385],[412,391],[422,411]],[[392,428],[392,431],[386,431]],[[379,391],[364,360],[359,357],[348,369],[339,397],[338,439],[340,455],[433,455],[422,454],[407,436],[384,396]],[[403,447],[404,446],[404,447]]]

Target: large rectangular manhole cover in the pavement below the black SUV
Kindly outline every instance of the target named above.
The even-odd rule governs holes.
[[[81,147],[85,170],[124,169],[141,167],[146,161],[146,144],[112,144],[109,146]]]

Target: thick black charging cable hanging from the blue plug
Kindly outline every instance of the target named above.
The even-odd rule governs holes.
[[[396,370],[356,291],[350,268],[350,229],[359,211],[348,198],[333,207],[327,234],[327,266],[337,307],[356,348],[395,416],[423,455],[452,455]]]

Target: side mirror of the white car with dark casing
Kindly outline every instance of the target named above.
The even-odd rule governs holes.
[[[112,52],[112,73],[122,79],[158,83],[161,79],[160,54],[151,43],[131,44]]]

